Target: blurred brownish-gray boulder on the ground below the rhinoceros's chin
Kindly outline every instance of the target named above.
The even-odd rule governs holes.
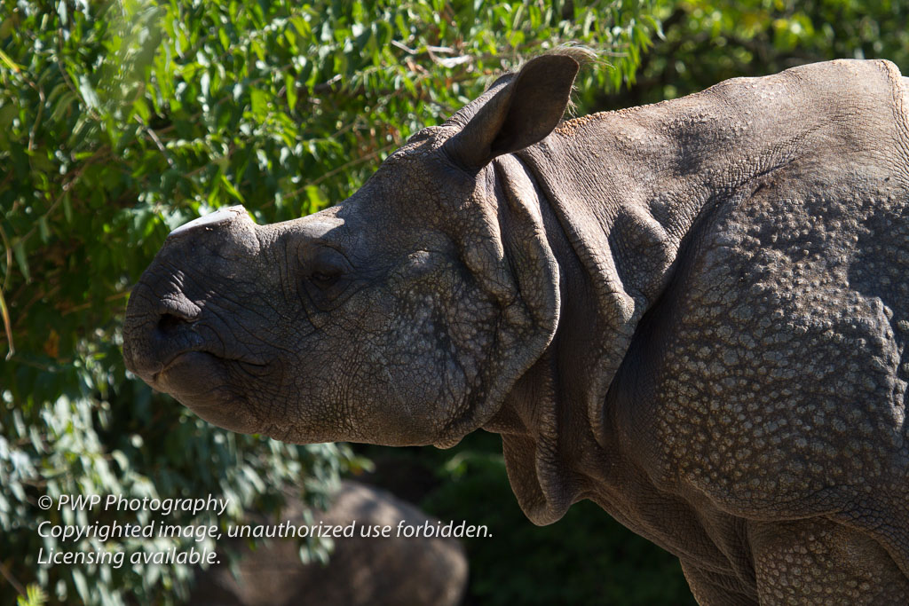
[[[414,505],[392,494],[357,482],[342,482],[327,512],[304,516],[292,500],[277,520],[294,526],[347,526],[353,537],[337,538],[328,565],[304,564],[298,539],[266,539],[255,551],[245,549],[237,574],[225,567],[210,568],[196,578],[190,604],[194,606],[457,606],[467,587],[467,557],[456,539],[397,538],[398,523],[434,523]],[[362,526],[391,526],[390,537],[362,537]],[[226,541],[226,540],[225,540]],[[248,539],[236,540],[245,544]],[[238,545],[233,545],[237,547]],[[219,549],[222,546],[219,545]]]

